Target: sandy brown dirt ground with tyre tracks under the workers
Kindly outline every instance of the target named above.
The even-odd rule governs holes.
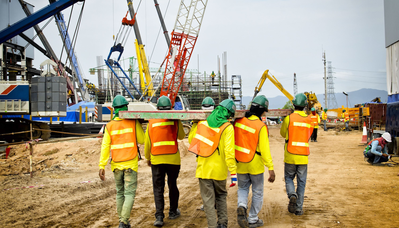
[[[284,139],[279,126],[269,130],[276,181],[265,183],[263,210],[259,213],[265,227],[399,227],[399,168],[365,163],[359,132],[319,131],[318,143],[310,143],[304,215],[288,213]],[[13,157],[0,160],[1,188],[38,187],[1,192],[0,227],[118,227],[115,182],[109,165],[107,180],[103,182],[98,177],[100,144],[101,139],[88,139],[38,145],[34,148],[34,163],[49,159],[35,166],[34,178],[27,173],[29,151],[23,145],[14,147]],[[166,218],[164,227],[207,227],[205,214],[199,210],[202,201],[195,178],[195,157],[184,151],[183,144],[180,149],[183,152],[178,187],[182,216],[176,220]],[[227,189],[228,227],[238,228],[237,187]],[[167,194],[166,189],[166,205]],[[138,190],[130,217],[132,227],[153,227],[154,212],[151,169],[140,161]]]

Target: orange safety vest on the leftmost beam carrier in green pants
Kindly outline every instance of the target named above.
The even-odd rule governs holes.
[[[111,120],[107,123],[111,137],[111,160],[114,162],[129,161],[137,156],[136,120]]]

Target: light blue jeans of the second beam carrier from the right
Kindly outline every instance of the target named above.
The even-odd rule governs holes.
[[[252,184],[252,203],[251,209],[249,210],[248,222],[254,223],[259,217],[258,213],[261,211],[263,206],[263,181],[265,180],[263,173],[252,175],[249,173],[239,174],[237,173],[237,198],[238,206],[248,208],[248,194],[249,186]]]

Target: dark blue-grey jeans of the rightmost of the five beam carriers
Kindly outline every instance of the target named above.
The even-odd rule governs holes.
[[[303,197],[305,194],[306,176],[308,175],[308,165],[295,165],[284,163],[285,189],[290,198],[296,196],[296,210],[302,210]],[[294,178],[296,176],[296,192]]]

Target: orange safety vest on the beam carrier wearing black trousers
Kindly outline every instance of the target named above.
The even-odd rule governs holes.
[[[148,136],[152,155],[170,155],[178,152],[178,121],[173,119],[150,119]]]

